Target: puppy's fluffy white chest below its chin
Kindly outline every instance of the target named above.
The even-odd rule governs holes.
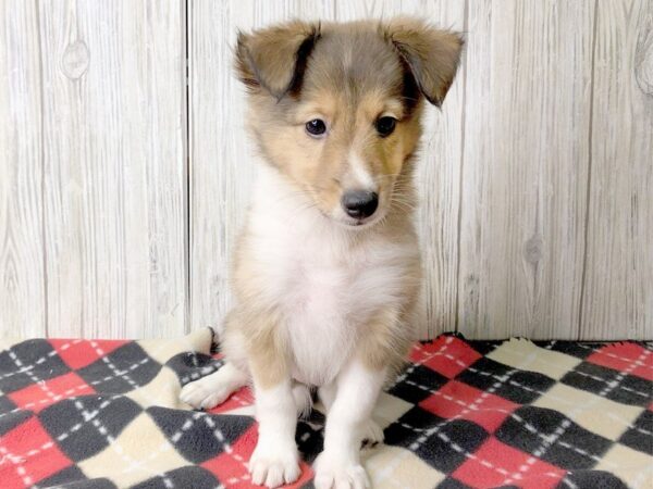
[[[385,280],[383,263],[356,252],[335,253],[323,242],[288,246],[275,267],[279,305],[292,349],[293,376],[323,385],[340,372]]]

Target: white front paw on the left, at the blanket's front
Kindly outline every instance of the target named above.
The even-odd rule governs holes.
[[[257,444],[249,459],[249,474],[257,486],[274,488],[294,482],[301,474],[297,448]]]

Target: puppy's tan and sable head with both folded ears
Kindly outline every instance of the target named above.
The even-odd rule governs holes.
[[[461,45],[410,18],[239,34],[236,71],[259,149],[324,215],[353,228],[381,221],[411,204],[401,183],[422,100],[442,103]]]

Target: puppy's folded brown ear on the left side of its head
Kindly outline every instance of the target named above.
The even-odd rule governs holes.
[[[320,36],[319,24],[293,21],[238,33],[236,73],[250,88],[261,87],[276,99],[301,83],[306,60]]]

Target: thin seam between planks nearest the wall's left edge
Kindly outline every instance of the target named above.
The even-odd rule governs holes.
[[[34,11],[36,13],[36,35],[37,35],[37,45],[38,45],[38,87],[39,87],[39,97],[40,97],[40,117],[39,117],[39,160],[40,160],[40,173],[41,173],[41,185],[40,185],[40,195],[41,195],[41,266],[44,268],[44,335],[46,338],[50,336],[50,326],[48,322],[48,313],[49,313],[49,304],[48,304],[48,247],[46,244],[47,235],[46,235],[46,148],[45,148],[45,118],[46,114],[44,113],[44,100],[45,100],[45,90],[44,90],[44,49],[42,49],[42,38],[40,32],[40,5],[39,0],[34,0]]]

